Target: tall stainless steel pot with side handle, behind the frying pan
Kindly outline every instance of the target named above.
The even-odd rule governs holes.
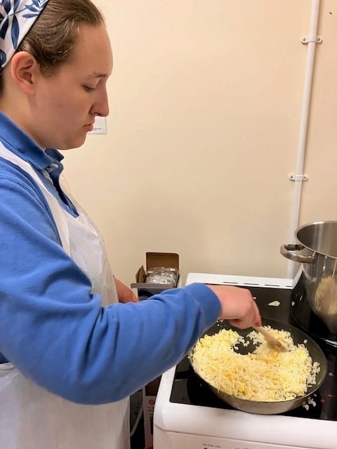
[[[300,226],[295,236],[298,244],[282,245],[281,254],[302,264],[308,303],[330,332],[336,334],[337,221]]]

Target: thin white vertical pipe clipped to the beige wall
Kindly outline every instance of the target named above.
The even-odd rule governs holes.
[[[291,230],[290,239],[291,243],[296,243],[295,232],[298,228],[299,215],[300,215],[300,199],[302,192],[303,183],[303,170],[305,161],[305,149],[307,145],[308,137],[308,121],[310,113],[310,100],[312,91],[312,74],[314,72],[315,65],[315,50],[317,44],[317,26],[319,18],[319,0],[312,0],[311,2],[311,18],[310,18],[310,29],[308,35],[308,54],[307,62],[305,66],[305,78],[304,78],[304,88],[303,88],[303,101],[302,101],[302,111],[300,116],[300,130],[298,136],[298,154],[297,154],[297,166],[296,166],[296,177],[293,180],[295,183],[293,192],[293,211],[291,216]],[[296,262],[291,262],[289,260],[287,267],[287,278],[293,279],[298,270],[298,264]]]

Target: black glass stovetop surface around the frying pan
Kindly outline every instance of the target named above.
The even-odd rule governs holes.
[[[293,290],[255,286],[245,286],[245,288],[249,288],[252,295],[256,297],[261,316],[300,328],[319,344],[326,356],[328,375],[322,387],[312,394],[313,403],[306,404],[305,407],[300,406],[283,415],[337,421],[337,335],[329,333],[324,323],[312,314],[309,306],[309,311],[306,309],[301,279]],[[279,301],[278,307],[268,305],[274,301]],[[206,382],[194,373],[187,357],[176,366],[170,401],[194,406],[232,409],[213,394]]]

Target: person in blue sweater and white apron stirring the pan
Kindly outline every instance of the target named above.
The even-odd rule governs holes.
[[[114,279],[58,151],[109,113],[103,15],[91,0],[0,7],[0,448],[128,448],[128,396],[217,319],[260,326],[258,307],[198,283],[138,302]]]

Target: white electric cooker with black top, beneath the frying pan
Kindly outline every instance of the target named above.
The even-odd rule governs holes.
[[[291,292],[298,281],[192,273],[186,283],[202,282],[251,288],[261,304],[261,314],[277,317],[277,307],[293,306]],[[287,305],[286,305],[287,303]],[[289,303],[289,304],[288,304]],[[269,309],[268,309],[269,307]],[[280,319],[279,321],[283,321]],[[324,352],[325,354],[325,352]],[[327,386],[312,401],[312,415],[304,408],[293,414],[256,415],[231,408],[213,406],[208,399],[191,401],[188,370],[185,364],[161,376],[154,407],[154,449],[337,449],[337,354],[329,353]],[[192,382],[192,381],[191,381]],[[178,400],[174,398],[174,393]],[[202,394],[204,395],[204,389]],[[199,392],[197,391],[197,395]],[[210,392],[211,394],[211,392]],[[335,400],[336,398],[336,400]]]

